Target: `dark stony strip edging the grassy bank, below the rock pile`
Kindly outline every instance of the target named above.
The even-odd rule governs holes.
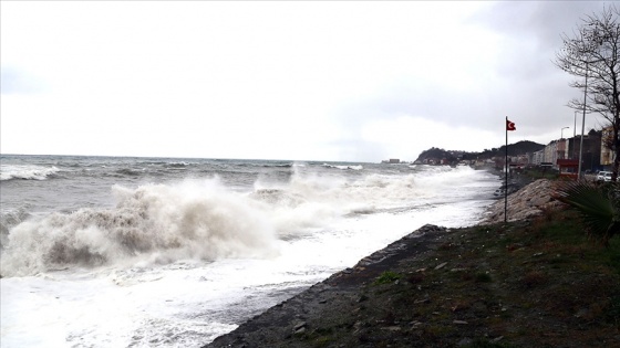
[[[399,262],[405,259],[423,261],[428,257],[443,243],[446,231],[450,230],[432,224],[423,225],[360,260],[353,267],[334,273],[203,347],[276,347],[281,340],[303,334],[309,323],[320,321],[326,308],[334,305],[349,307],[348,303],[363,300],[362,297],[356,297],[359,288],[372,283]],[[290,342],[285,346],[290,347]]]

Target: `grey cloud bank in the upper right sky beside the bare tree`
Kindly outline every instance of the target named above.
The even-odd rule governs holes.
[[[451,88],[450,81],[425,85],[410,81],[371,101],[363,107],[365,114],[393,117],[406,113],[456,125],[476,122],[487,130],[496,127],[498,117],[507,115],[520,118],[525,129],[528,124],[533,131],[552,128],[572,117],[572,110],[562,107],[580,93],[568,87],[572,77],[552,64],[555,52],[561,48],[560,34],[570,32],[580,18],[600,11],[602,6],[592,1],[499,2],[469,19],[503,36],[500,63],[488,66],[496,70],[489,75],[497,73],[499,78],[487,81],[482,88],[473,81],[471,91]],[[457,60],[458,52],[453,54]]]

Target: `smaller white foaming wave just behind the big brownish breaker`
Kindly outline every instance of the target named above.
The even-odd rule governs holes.
[[[249,197],[266,204],[279,235],[303,234],[343,217],[407,208],[428,196],[414,175],[356,178],[296,171],[287,183],[257,181]]]

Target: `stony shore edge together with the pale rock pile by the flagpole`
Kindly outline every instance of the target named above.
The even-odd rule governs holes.
[[[521,176],[517,176],[521,177]],[[504,183],[503,183],[504,186]],[[514,178],[508,184],[513,192],[508,196],[509,214],[523,220],[540,214],[545,204],[554,203],[552,199],[539,199],[550,189],[548,180],[536,181],[529,178]],[[503,197],[503,194],[502,194]],[[526,204],[518,203],[526,201]],[[503,222],[504,200],[497,200],[487,208],[486,218],[471,228],[475,229]],[[265,310],[248,319],[235,330],[217,337],[207,347],[293,347],[291,339],[304,334],[316,323],[324,320],[323,315],[330,307],[342,310],[355,310],[355,305],[362,300],[360,289],[375,281],[383,272],[396,268],[403,261],[417,264],[425,268],[428,260],[441,247],[451,232],[463,229],[447,229],[426,224],[416,231],[401,238],[388,246],[360,260],[353,267],[334,273],[327,280],[319,282],[300,294]],[[431,262],[432,263],[432,262]],[[437,267],[438,265],[434,265]],[[414,267],[415,268],[415,267]],[[313,324],[309,324],[313,323]],[[287,341],[285,344],[285,341]],[[299,347],[304,347],[303,345]]]

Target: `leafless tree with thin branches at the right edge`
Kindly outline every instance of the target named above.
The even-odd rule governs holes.
[[[620,11],[616,4],[602,12],[587,15],[572,36],[562,34],[564,46],[556,53],[555,64],[578,77],[571,87],[583,91],[583,98],[574,98],[568,106],[588,114],[599,114],[612,127],[608,146],[616,156],[612,180],[620,168]]]

